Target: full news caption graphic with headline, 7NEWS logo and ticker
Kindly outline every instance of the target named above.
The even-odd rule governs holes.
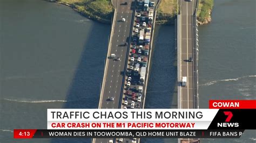
[[[48,109],[48,130],[14,130],[14,137],[239,138],[256,129],[255,101],[209,103],[219,109]]]

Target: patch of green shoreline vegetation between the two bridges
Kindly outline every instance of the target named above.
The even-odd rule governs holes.
[[[156,24],[173,24],[177,12],[177,0],[161,0],[157,10]]]

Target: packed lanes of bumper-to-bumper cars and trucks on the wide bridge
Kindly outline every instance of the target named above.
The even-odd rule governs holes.
[[[138,2],[134,17],[129,59],[125,76],[122,101],[123,109],[142,108],[145,76],[150,51],[153,13],[154,2]]]

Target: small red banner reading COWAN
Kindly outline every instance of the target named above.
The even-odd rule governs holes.
[[[256,109],[256,100],[210,100],[209,109]]]

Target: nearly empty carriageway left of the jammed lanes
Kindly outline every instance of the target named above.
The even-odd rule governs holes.
[[[127,2],[127,5],[124,4],[125,2]],[[120,58],[120,60],[117,61],[116,58],[108,58],[106,61],[102,97],[99,101],[99,108],[102,109],[118,109],[122,101],[125,65],[128,59],[135,3],[129,0],[112,0],[112,4],[116,8],[116,18],[113,19],[113,34],[107,56],[116,54],[116,58]],[[125,22],[122,22],[122,18],[125,18]],[[128,43],[126,46],[124,46],[125,42]],[[113,97],[114,101],[110,101],[110,97]],[[95,142],[105,143],[109,142],[109,140],[95,139]]]

